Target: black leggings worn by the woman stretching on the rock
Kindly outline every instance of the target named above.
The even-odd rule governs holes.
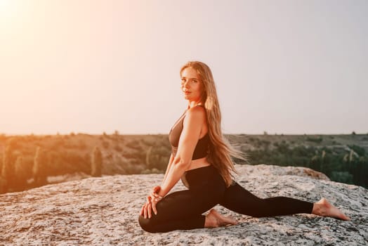
[[[156,205],[157,215],[152,213],[151,219],[139,216],[143,230],[157,233],[204,228],[205,216],[202,214],[218,204],[255,217],[310,214],[313,209],[313,203],[294,198],[257,198],[235,182],[226,188],[225,181],[213,166],[186,171],[183,178],[189,190],[162,198]]]

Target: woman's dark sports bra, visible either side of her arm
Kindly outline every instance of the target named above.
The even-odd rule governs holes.
[[[199,105],[200,106],[200,105]],[[185,112],[180,116],[176,124],[173,125],[169,133],[169,141],[171,144],[171,150],[175,157],[178,151],[179,138],[181,131],[183,131],[183,122],[185,118]],[[195,151],[193,152],[192,160],[197,160],[207,156],[209,149],[209,134],[206,133],[202,138],[199,138],[197,145],[195,145]]]

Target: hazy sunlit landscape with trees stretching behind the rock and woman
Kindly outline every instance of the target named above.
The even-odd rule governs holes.
[[[228,135],[248,164],[309,167],[331,181],[368,187],[368,134]],[[0,192],[114,174],[163,173],[167,135],[0,135]],[[242,160],[235,160],[245,164]]]

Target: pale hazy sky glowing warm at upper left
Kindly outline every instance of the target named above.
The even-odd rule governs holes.
[[[0,134],[168,134],[188,60],[225,134],[368,133],[366,0],[0,0]]]

